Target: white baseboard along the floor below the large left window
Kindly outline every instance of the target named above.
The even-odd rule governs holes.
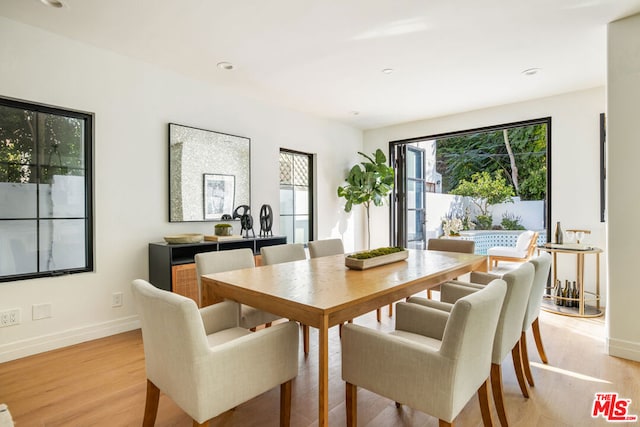
[[[138,328],[140,328],[140,321],[138,320],[138,316],[134,315],[0,345],[0,363],[132,331]]]

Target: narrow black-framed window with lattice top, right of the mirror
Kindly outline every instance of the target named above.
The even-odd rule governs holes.
[[[280,149],[280,234],[313,240],[313,155]]]

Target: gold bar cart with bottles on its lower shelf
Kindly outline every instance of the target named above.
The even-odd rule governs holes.
[[[600,310],[600,254],[603,252],[600,248],[590,247],[584,250],[572,249],[570,247],[546,247],[539,246],[539,251],[549,252],[553,255],[553,285],[558,280],[558,254],[573,254],[576,256],[576,285],[580,293],[578,299],[578,307],[564,307],[555,304],[555,299],[558,298],[555,295],[547,293],[543,300],[542,308],[545,311],[563,314],[565,316],[575,317],[598,317],[602,315]],[[587,292],[584,287],[584,257],[585,255],[595,255],[596,257],[596,291]],[[553,286],[547,288],[553,290]],[[563,298],[564,300],[573,300],[572,298]],[[588,302],[594,303],[594,305],[587,304]]]

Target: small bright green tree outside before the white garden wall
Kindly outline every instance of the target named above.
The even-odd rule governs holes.
[[[511,198],[515,195],[513,187],[507,183],[500,171],[494,172],[493,177],[486,171],[476,172],[471,176],[470,181],[463,179],[451,191],[451,194],[469,197],[471,202],[477,206],[480,211],[480,214],[477,215],[480,229],[491,226],[491,213],[489,212],[491,205],[511,202]],[[489,221],[488,226],[487,220]]]

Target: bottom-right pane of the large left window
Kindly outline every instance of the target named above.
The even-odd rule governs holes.
[[[86,266],[85,221],[40,222],[40,270],[56,271]]]

